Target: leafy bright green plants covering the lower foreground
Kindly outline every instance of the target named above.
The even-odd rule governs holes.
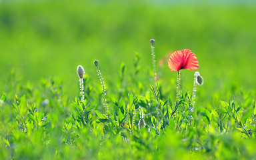
[[[216,107],[214,99],[207,107],[201,105],[203,100],[193,107],[195,99],[189,92],[183,90],[175,101],[175,93],[164,94],[159,82],[157,87],[143,86],[143,94],[126,89],[121,94],[125,96],[116,99],[119,91],[108,93],[110,114],[105,115],[100,85],[91,91],[87,81],[84,103],[79,97],[67,100],[58,90],[61,85],[58,79],[43,80],[37,89],[21,87],[14,95],[1,97],[1,157],[250,159],[256,155],[255,95],[250,93],[241,92],[243,97],[237,95],[236,101],[233,97],[219,101]]]

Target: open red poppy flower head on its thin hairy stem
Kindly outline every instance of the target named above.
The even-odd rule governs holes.
[[[195,54],[191,53],[191,50],[183,49],[170,55],[168,67],[171,71],[179,71],[181,69],[197,70],[199,63]]]

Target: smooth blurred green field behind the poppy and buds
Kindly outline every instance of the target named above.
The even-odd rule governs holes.
[[[60,77],[69,96],[79,93],[77,65],[99,83],[99,60],[109,88],[122,62],[133,72],[141,54],[139,79],[171,51],[191,49],[199,60],[205,95],[256,87],[256,4],[253,1],[0,1],[0,85],[11,71],[23,83]],[[166,58],[165,58],[166,59]],[[166,59],[167,61],[167,59]],[[167,63],[157,66],[163,85],[174,85]],[[161,74],[160,74],[161,73]],[[191,89],[193,71],[182,71]],[[94,81],[94,80],[93,80]]]

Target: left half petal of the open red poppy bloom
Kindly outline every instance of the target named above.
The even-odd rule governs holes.
[[[175,51],[170,55],[168,67],[171,71],[179,71],[184,64],[184,55],[182,51]]]

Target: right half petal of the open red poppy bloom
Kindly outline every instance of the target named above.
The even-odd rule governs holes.
[[[186,58],[185,58],[185,63],[183,65],[183,69],[197,70],[199,67],[199,62],[197,60],[197,57],[195,57],[195,54],[191,53],[190,51],[190,53],[185,55],[185,57]]]

